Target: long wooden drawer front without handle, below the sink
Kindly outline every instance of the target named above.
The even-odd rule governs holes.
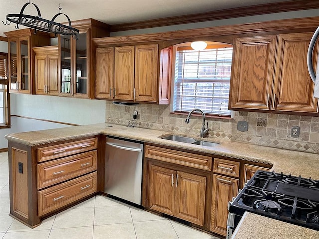
[[[212,157],[167,148],[145,146],[145,157],[211,171]]]

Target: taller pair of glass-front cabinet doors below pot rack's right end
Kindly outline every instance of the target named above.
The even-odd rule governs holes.
[[[60,36],[61,84],[60,95],[88,98],[89,67],[88,49],[89,29],[80,31],[77,39],[72,36]]]

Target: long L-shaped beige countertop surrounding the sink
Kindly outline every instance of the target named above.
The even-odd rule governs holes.
[[[283,172],[284,174],[291,173],[295,176],[302,175],[302,177],[312,177],[314,179],[319,179],[318,154],[238,143],[217,138],[204,138],[204,140],[218,142],[221,143],[220,145],[215,147],[204,147],[189,143],[180,143],[161,139],[159,137],[163,135],[169,135],[170,133],[166,131],[139,127],[131,128],[123,125],[99,123],[59,129],[12,133],[6,135],[5,137],[10,141],[36,146],[50,142],[59,142],[63,140],[99,134],[139,140],[148,143],[156,143],[180,149],[188,149],[197,152],[214,154],[216,156],[232,157],[252,162],[270,164],[273,165],[272,170],[275,172]],[[187,136],[193,136],[199,139],[199,137],[196,135]]]

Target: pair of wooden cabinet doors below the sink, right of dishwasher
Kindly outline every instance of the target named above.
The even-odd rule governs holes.
[[[206,177],[149,166],[149,208],[203,226]]]

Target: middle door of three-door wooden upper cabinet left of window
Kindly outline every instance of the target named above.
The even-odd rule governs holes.
[[[133,100],[134,46],[114,48],[114,99]]]

